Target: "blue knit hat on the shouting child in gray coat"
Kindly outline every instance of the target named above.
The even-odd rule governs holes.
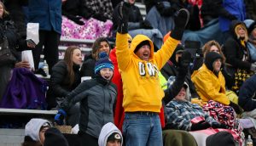
[[[97,60],[95,65],[95,69],[94,69],[95,74],[104,68],[113,70],[113,63],[108,58],[108,54],[105,52],[102,52],[102,53],[99,53],[99,59]]]

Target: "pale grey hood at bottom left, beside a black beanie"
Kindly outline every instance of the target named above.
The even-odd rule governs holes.
[[[33,118],[31,121],[26,123],[25,136],[29,136],[34,141],[40,141],[39,132],[40,128],[44,125],[44,123],[48,123],[50,126],[49,121],[46,121],[44,119]]]

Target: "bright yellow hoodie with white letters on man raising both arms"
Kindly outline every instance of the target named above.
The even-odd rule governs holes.
[[[139,59],[134,53],[137,45],[143,41],[150,43],[150,59]],[[137,35],[128,49],[127,34],[116,36],[116,56],[123,81],[125,112],[152,111],[160,112],[164,92],[160,86],[159,72],[170,59],[179,41],[168,38],[157,53],[148,36]]]

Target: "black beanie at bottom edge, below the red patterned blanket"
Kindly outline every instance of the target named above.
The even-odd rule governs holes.
[[[230,132],[218,132],[207,138],[207,146],[236,146],[235,140]]]

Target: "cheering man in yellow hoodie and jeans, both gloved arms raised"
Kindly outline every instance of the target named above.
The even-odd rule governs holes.
[[[116,55],[123,81],[125,121],[123,132],[126,146],[161,146],[162,131],[158,113],[164,92],[160,87],[159,71],[170,59],[189,20],[189,12],[181,9],[175,28],[162,48],[154,53],[148,36],[137,35],[128,48],[127,3],[119,4],[119,27],[116,36]]]

